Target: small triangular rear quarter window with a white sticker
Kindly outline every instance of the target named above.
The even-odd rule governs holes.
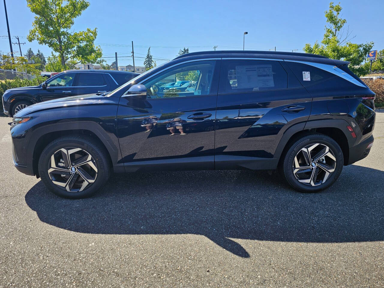
[[[335,75],[325,70],[298,62],[285,61],[303,86],[310,86]]]

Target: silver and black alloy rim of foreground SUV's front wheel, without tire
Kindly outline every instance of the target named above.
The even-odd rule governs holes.
[[[53,153],[48,167],[53,184],[69,192],[83,191],[96,180],[97,171],[91,154],[76,147],[61,148]]]

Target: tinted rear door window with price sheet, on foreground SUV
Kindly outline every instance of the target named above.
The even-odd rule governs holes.
[[[223,60],[220,93],[265,91],[287,88],[288,76],[279,61]]]

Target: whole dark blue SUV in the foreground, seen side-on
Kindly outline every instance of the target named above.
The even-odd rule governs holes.
[[[185,54],[110,93],[24,108],[11,127],[13,161],[71,198],[96,192],[111,171],[279,169],[297,190],[323,190],[373,144],[375,94],[348,64],[303,53]],[[160,88],[177,81],[195,85]]]

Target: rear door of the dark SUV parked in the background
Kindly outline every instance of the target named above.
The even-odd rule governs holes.
[[[108,92],[109,83],[102,72],[79,72],[73,87],[73,95]]]

